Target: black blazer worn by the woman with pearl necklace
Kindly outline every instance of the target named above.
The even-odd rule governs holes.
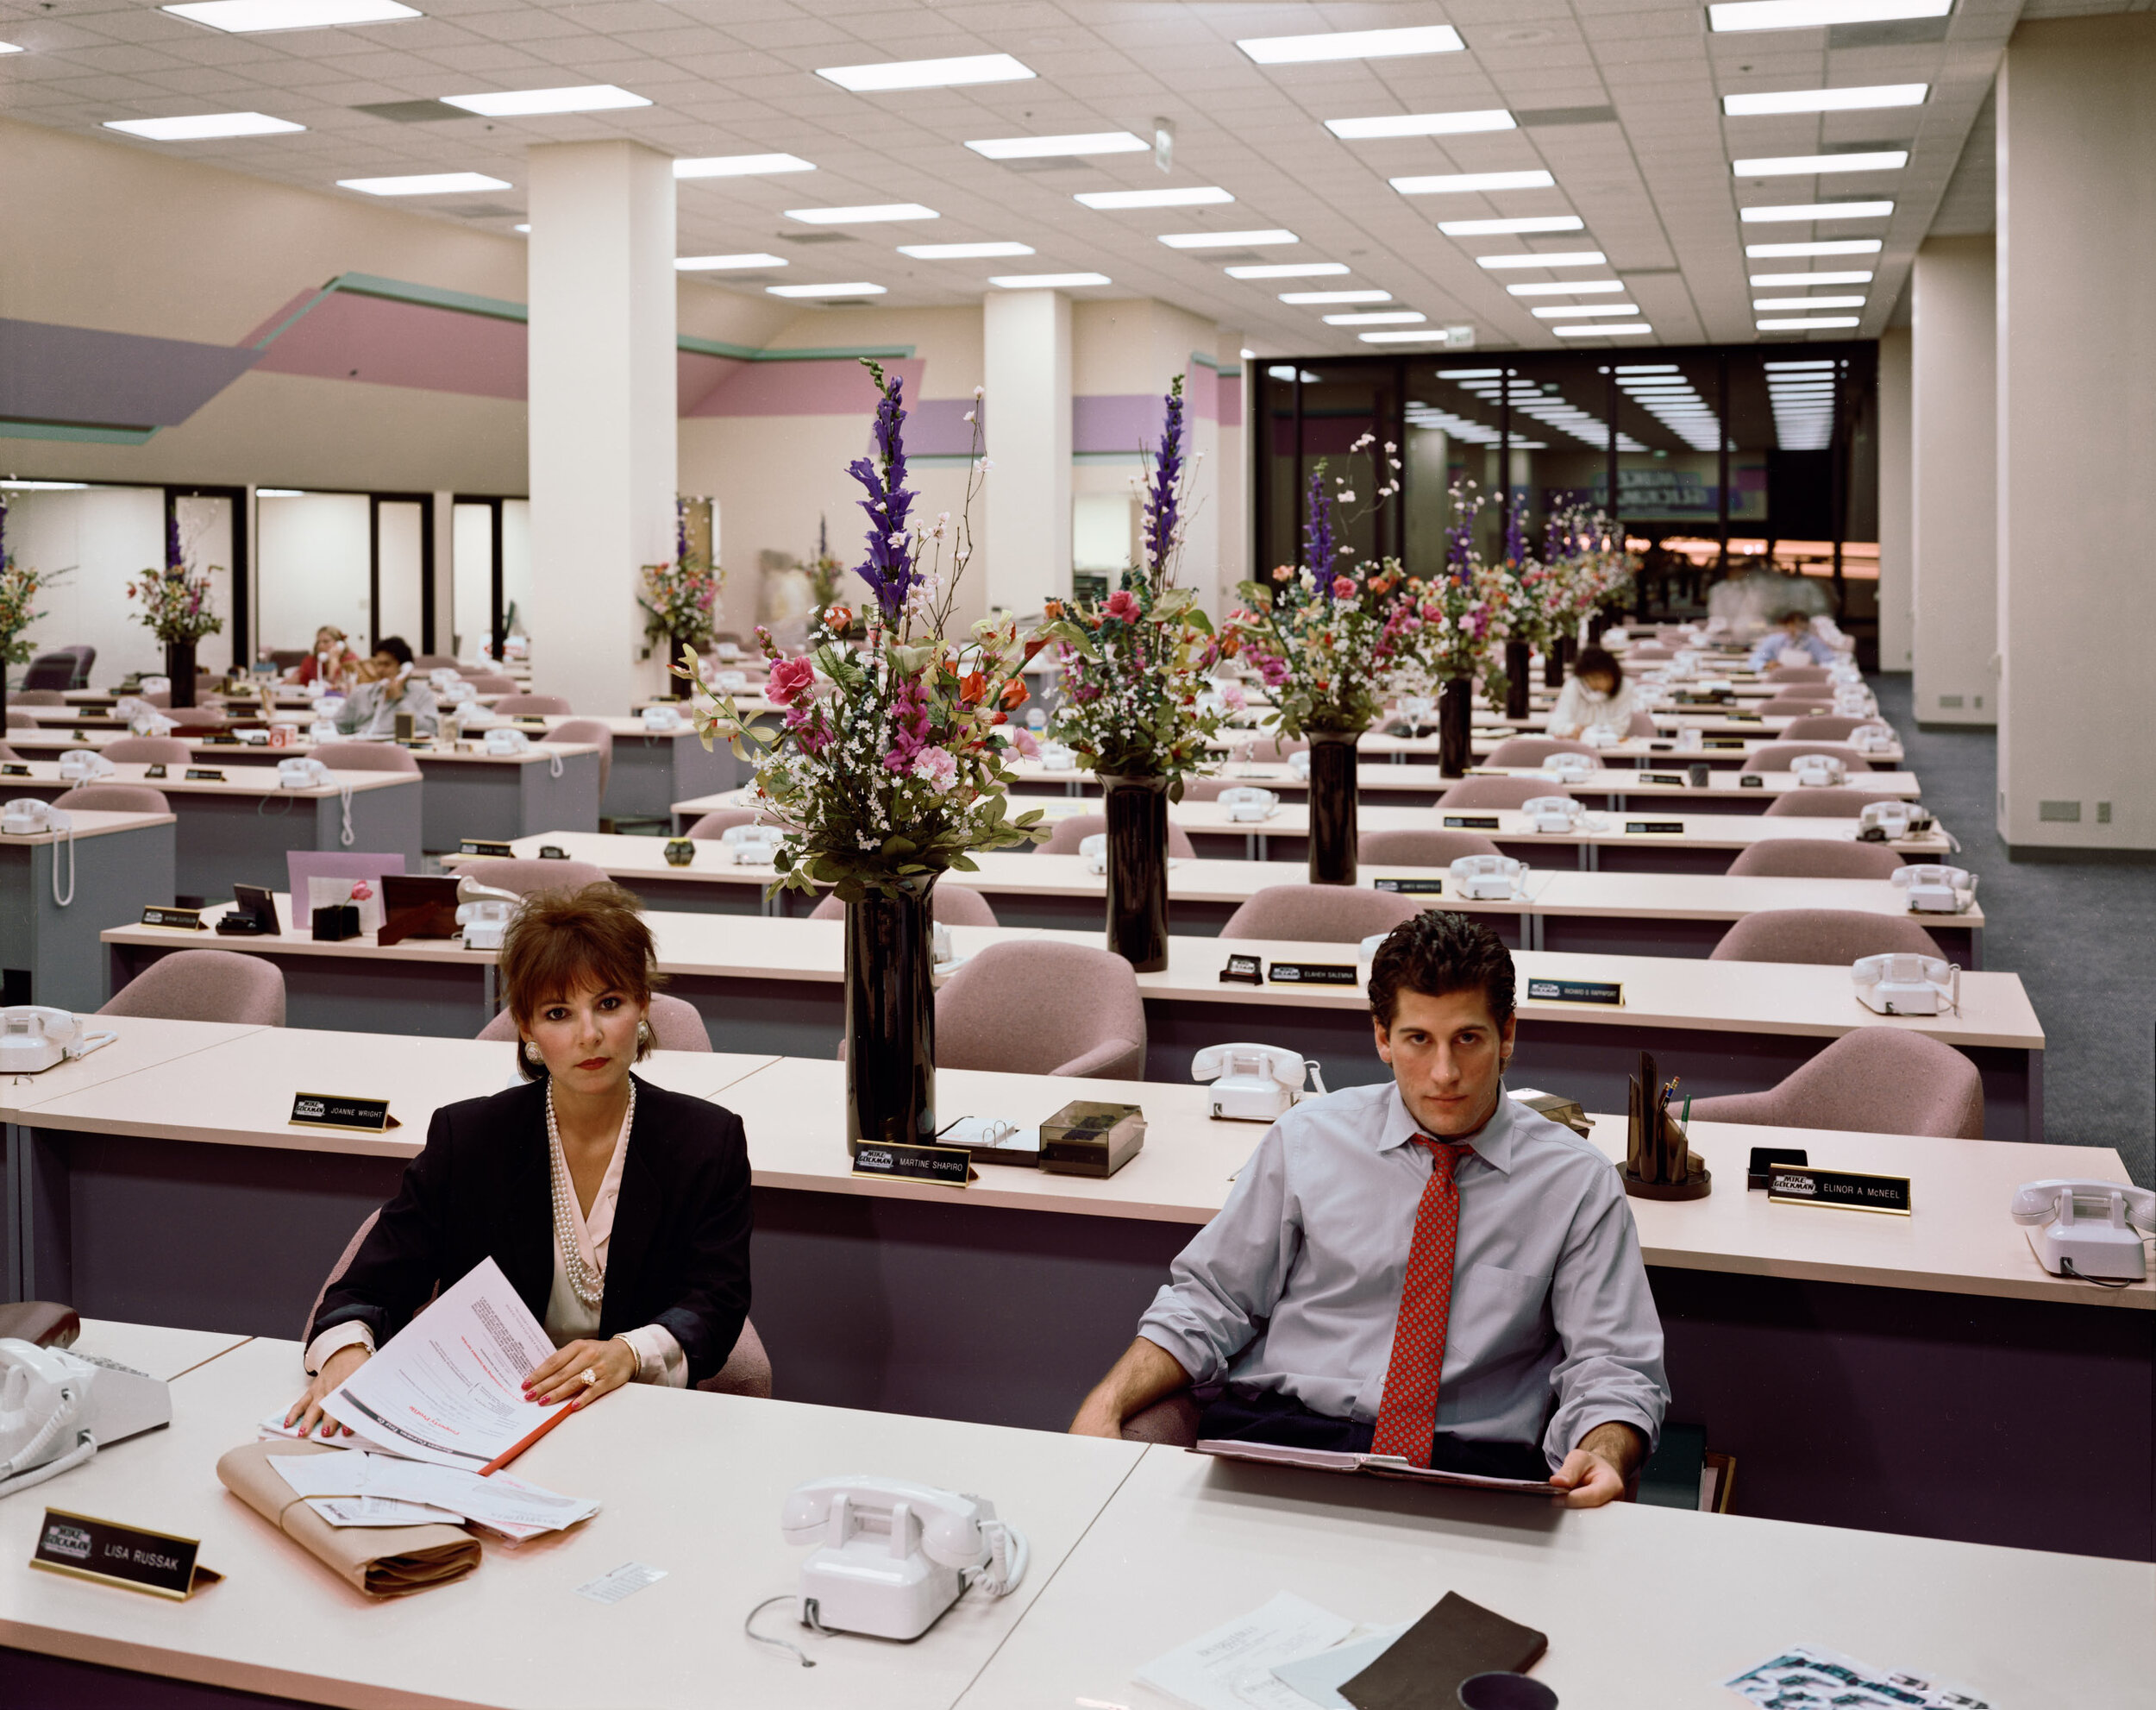
[[[608,1242],[599,1337],[664,1324],[692,1384],[714,1376],[748,1320],[748,1141],[742,1119],[636,1080],[636,1128]],[[444,1104],[360,1251],[321,1296],[308,1339],[347,1320],[379,1348],[438,1287],[492,1257],[545,1318],[554,1184],[545,1087]]]

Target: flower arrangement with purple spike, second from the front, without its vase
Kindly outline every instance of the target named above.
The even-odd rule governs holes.
[[[1184,451],[1181,375],[1164,403],[1160,446],[1147,455],[1145,563],[1128,567],[1106,599],[1048,602],[1046,634],[1063,666],[1056,742],[1100,774],[1169,778],[1169,800],[1181,800],[1184,778],[1207,763],[1207,742],[1229,705],[1203,684],[1222,645],[1194,593],[1175,587],[1197,461]],[[1227,651],[1235,645],[1225,643]],[[1013,740],[1033,748],[1024,731]]]

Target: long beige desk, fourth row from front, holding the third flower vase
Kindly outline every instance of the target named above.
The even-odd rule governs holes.
[[[815,899],[798,891],[772,893],[770,867],[737,867],[714,839],[692,843],[690,863],[666,858],[666,843],[653,837],[606,832],[541,832],[513,845],[520,858],[535,858],[543,845],[571,860],[589,860],[619,880],[649,908],[694,914],[806,914]],[[485,878],[492,856],[446,856],[451,871],[472,869]],[[979,871],[953,873],[985,895],[1003,925],[1067,927],[1084,932],[1104,919],[1108,880],[1087,871],[1084,856],[998,850],[975,856]],[[1578,873],[1535,869],[1526,895],[1505,901],[1470,901],[1453,895],[1442,867],[1380,863],[1363,867],[1358,884],[1378,878],[1436,880],[1447,891],[1432,906],[1483,916],[1522,949],[1600,949],[1626,955],[1705,955],[1729,927],[1768,908],[1846,908],[1865,914],[1908,916],[1904,895],[1887,880],[1796,880],[1725,873]],[[1300,873],[1283,873],[1255,860],[1171,860],[1171,932],[1207,938],[1253,895],[1272,884],[1298,884]],[[1981,966],[1984,910],[1919,916],[1964,968]]]

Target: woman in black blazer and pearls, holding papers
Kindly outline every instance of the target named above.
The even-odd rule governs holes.
[[[584,1406],[727,1363],[748,1318],[748,1145],[731,1111],[630,1072],[651,1050],[653,962],[617,884],[524,899],[500,973],[526,1085],[433,1113],[321,1298],[287,1425],[328,1434],[321,1399],[487,1257],[554,1341],[533,1399]]]

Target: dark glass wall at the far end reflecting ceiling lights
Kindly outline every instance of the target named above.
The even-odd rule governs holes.
[[[1261,360],[1253,433],[1255,563],[1296,563],[1319,461],[1373,433],[1399,444],[1401,492],[1356,520],[1356,554],[1442,563],[1449,492],[1509,494],[1529,541],[1550,515],[1615,515],[1641,554],[1636,617],[1705,612],[1731,576],[1805,578],[1792,604],[1876,643],[1876,345],[1440,351]],[[1363,511],[1365,507],[1350,507]],[[1481,520],[1496,554],[1503,511]]]

